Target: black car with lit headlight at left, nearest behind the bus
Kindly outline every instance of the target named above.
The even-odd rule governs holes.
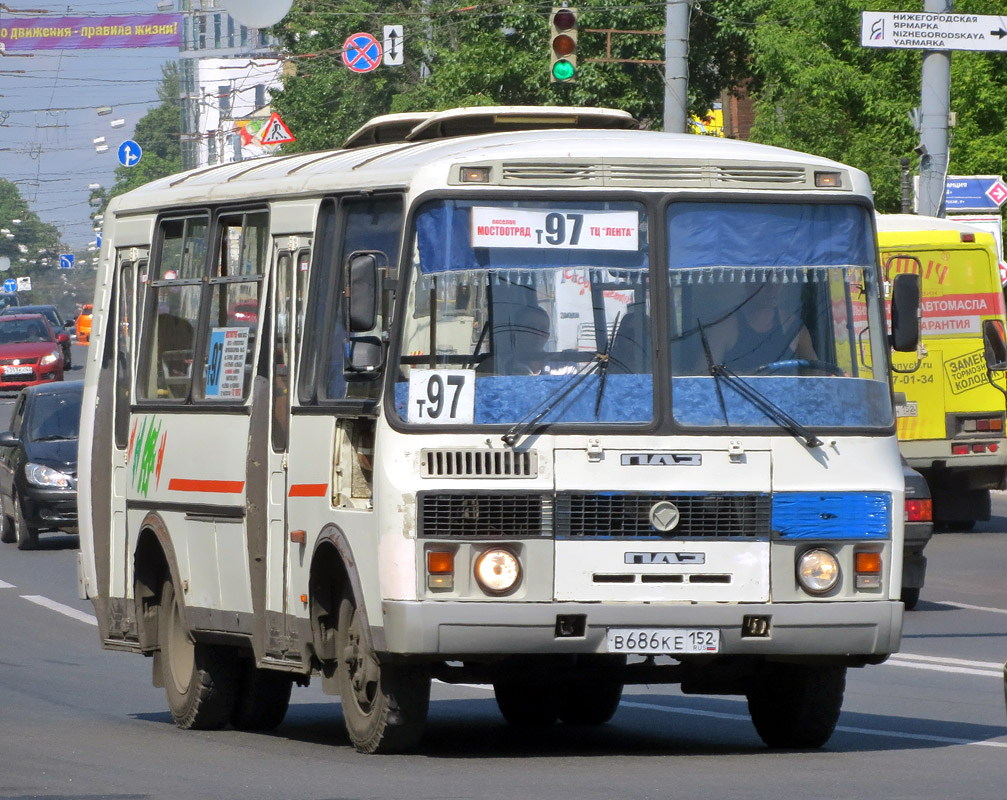
[[[22,389],[0,433],[0,541],[27,550],[43,530],[77,532],[83,381]]]

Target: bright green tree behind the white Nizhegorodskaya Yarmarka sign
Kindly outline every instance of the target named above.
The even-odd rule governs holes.
[[[770,0],[756,28],[758,79],[752,138],[835,158],[866,171],[881,211],[900,207],[902,157],[916,158],[908,112],[919,106],[921,51],[860,45],[863,2]],[[893,8],[892,6],[895,6]],[[871,0],[868,10],[919,11],[919,2]],[[958,13],[998,13],[990,0],[959,0]],[[955,51],[952,174],[1003,173],[1007,63]]]

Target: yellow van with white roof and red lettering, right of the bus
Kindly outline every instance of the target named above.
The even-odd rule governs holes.
[[[934,523],[970,530],[1007,476],[1004,396],[983,360],[983,321],[1004,319],[996,241],[933,217],[878,215],[877,226],[886,284],[922,275],[922,347],[893,356],[899,448],[926,478]]]

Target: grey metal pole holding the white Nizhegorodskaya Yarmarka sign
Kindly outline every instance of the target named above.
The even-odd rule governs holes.
[[[954,0],[925,0],[923,10],[949,14]],[[919,214],[945,216],[948,180],[948,118],[951,115],[951,50],[923,50],[919,97]]]

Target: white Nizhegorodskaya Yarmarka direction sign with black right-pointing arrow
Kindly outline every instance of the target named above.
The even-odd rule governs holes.
[[[864,47],[919,50],[1007,51],[1007,19],[989,14],[932,14],[914,11],[864,11]]]

